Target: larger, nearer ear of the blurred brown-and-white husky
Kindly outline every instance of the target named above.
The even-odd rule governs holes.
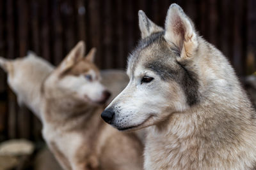
[[[77,61],[84,57],[85,45],[84,41],[79,41],[77,45],[68,53],[68,55],[63,59],[60,65],[57,67],[58,73],[63,73],[74,66]]]

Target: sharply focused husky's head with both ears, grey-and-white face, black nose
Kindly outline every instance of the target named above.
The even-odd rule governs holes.
[[[158,124],[199,100],[196,70],[189,69],[198,48],[191,20],[177,4],[168,10],[165,29],[143,11],[138,15],[141,40],[129,56],[129,84],[101,115],[119,130]]]

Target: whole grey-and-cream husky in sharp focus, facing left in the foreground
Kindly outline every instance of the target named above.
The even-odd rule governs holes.
[[[145,169],[255,168],[255,111],[225,56],[177,4],[164,28],[138,15],[129,84],[101,117],[120,131],[147,127]]]

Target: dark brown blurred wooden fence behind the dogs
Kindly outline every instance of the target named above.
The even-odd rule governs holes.
[[[58,64],[77,41],[97,47],[101,69],[125,68],[127,54],[140,38],[138,10],[164,25],[171,3],[195,21],[202,36],[230,59],[239,76],[255,71],[254,0],[1,0],[0,55],[13,59],[33,50]],[[0,71],[0,141],[40,139],[40,123],[17,106]]]

